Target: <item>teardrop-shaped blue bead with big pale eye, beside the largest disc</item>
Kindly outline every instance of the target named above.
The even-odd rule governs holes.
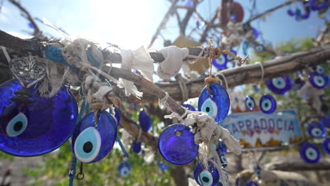
[[[75,157],[83,163],[103,159],[114,147],[117,137],[116,120],[107,111],[88,113],[78,123],[72,135],[71,148]]]

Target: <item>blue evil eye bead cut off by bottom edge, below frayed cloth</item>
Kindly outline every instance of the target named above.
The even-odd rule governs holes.
[[[202,163],[198,163],[194,169],[195,181],[198,185],[216,186],[220,180],[219,171],[214,167],[213,163],[209,163],[209,168],[204,168]]]

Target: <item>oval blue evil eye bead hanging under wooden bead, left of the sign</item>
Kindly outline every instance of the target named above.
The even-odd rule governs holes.
[[[216,123],[219,123],[226,118],[231,103],[224,87],[212,83],[209,88],[213,95],[209,94],[207,87],[204,87],[198,99],[198,111],[208,113],[209,116],[214,117]]]

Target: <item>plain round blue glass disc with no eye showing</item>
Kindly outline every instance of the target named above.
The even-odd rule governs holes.
[[[158,140],[158,149],[166,161],[176,165],[185,165],[197,155],[198,145],[194,134],[183,124],[173,124],[165,128]]]

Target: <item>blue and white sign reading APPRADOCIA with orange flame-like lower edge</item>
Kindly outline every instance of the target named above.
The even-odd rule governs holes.
[[[245,148],[281,147],[302,140],[295,111],[233,113],[221,122]]]

